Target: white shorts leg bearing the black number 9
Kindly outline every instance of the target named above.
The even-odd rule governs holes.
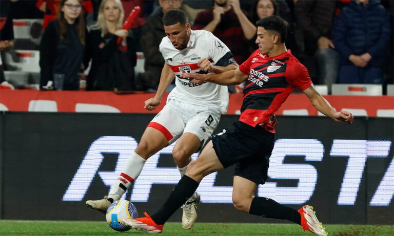
[[[201,109],[201,106],[198,107]],[[191,133],[200,139],[200,147],[209,140],[220,121],[220,110],[206,108],[205,111],[196,110],[195,114],[186,121],[185,133]]]

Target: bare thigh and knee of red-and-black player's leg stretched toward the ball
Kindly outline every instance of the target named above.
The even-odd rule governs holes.
[[[223,169],[218,156],[213,149],[212,142],[209,141],[201,152],[199,158],[189,165],[186,175],[195,181],[200,182],[205,176]]]

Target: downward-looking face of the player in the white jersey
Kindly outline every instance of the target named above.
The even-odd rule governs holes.
[[[164,32],[170,39],[172,46],[178,50],[186,48],[187,42],[190,37],[190,24],[181,25],[176,23],[172,26],[164,26]]]

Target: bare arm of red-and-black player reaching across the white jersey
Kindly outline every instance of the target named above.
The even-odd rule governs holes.
[[[248,76],[237,68],[235,70],[225,71],[223,73],[214,75],[184,73],[181,75],[181,78],[193,78],[190,80],[191,83],[203,83],[204,81],[208,81],[220,85],[234,85],[242,83],[248,78]]]

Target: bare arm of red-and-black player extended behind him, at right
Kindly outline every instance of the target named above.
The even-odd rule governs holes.
[[[351,124],[354,120],[354,117],[350,112],[342,111],[336,112],[330,103],[322,97],[313,87],[313,84],[310,87],[303,91],[306,96],[308,96],[309,100],[312,102],[312,105],[324,115],[332,118],[335,121],[344,121],[346,123]]]

